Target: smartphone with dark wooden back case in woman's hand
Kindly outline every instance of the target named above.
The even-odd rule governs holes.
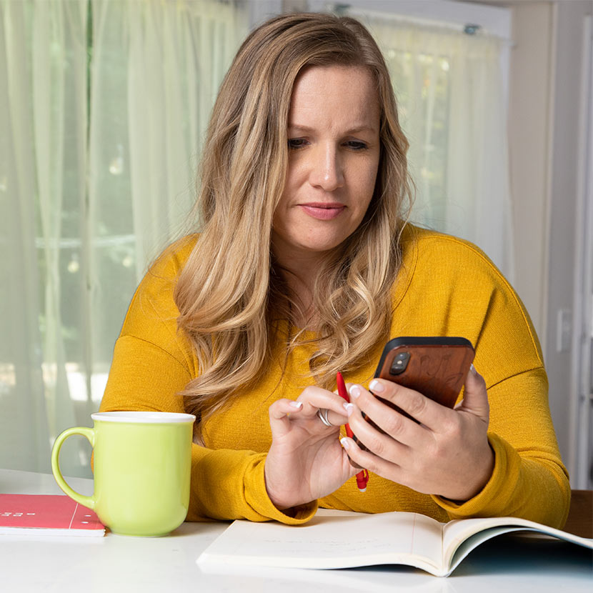
[[[394,338],[385,345],[374,376],[414,389],[434,402],[452,408],[462,390],[474,354],[472,343],[461,337]],[[387,399],[375,397],[418,422]],[[363,412],[362,416],[374,428],[384,432],[367,414]],[[356,436],[354,440],[359,447],[366,449]]]

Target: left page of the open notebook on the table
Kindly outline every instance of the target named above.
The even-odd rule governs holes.
[[[416,513],[324,513],[307,524],[236,521],[199,563],[294,568],[409,564],[442,569],[442,524]]]

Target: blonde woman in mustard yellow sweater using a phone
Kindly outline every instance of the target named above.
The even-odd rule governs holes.
[[[239,49],[204,145],[201,233],[141,282],[101,402],[196,414],[189,519],[300,523],[321,504],[564,523],[567,472],[527,312],[476,247],[405,223],[407,146],[357,21],[279,16]],[[474,344],[482,376],[469,372],[456,409],[369,385],[402,335]],[[368,451],[339,440],[347,420]],[[364,494],[351,459],[372,472]]]

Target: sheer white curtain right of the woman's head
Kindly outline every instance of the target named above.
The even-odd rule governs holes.
[[[513,231],[501,39],[352,13],[392,74],[410,169],[412,221],[469,239],[512,281]]]

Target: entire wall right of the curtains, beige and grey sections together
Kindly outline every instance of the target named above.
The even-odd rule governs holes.
[[[509,144],[515,288],[542,341],[560,451],[571,466],[575,236],[584,16],[592,0],[467,0],[512,9]],[[588,164],[589,167],[593,163]],[[559,315],[568,332],[558,350]],[[560,340],[562,342],[562,340]]]

